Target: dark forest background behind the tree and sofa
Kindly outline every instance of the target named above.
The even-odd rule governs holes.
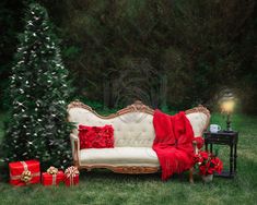
[[[117,108],[214,108],[224,89],[257,113],[255,0],[38,0],[62,39],[71,99]],[[30,1],[0,1],[0,109]]]

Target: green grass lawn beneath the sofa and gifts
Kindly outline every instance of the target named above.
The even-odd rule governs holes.
[[[220,114],[213,114],[211,122],[224,128]],[[240,131],[235,179],[215,177],[212,183],[203,184],[195,174],[195,184],[189,184],[188,172],[183,178],[175,176],[162,182],[160,173],[128,176],[106,170],[82,171],[75,188],[62,184],[13,188],[0,182],[0,204],[256,204],[257,117],[234,116],[232,126]],[[227,158],[226,147],[220,146],[219,155]]]

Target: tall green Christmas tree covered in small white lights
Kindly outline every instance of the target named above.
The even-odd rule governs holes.
[[[10,80],[7,162],[36,158],[45,168],[71,162],[71,124],[66,120],[71,86],[58,44],[45,8],[30,4]]]

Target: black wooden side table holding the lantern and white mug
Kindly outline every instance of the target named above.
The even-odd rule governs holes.
[[[205,144],[206,150],[208,150],[208,145],[210,145],[210,152],[212,153],[212,145],[229,145],[230,146],[230,170],[223,170],[221,177],[233,178],[236,174],[236,146],[238,142],[238,132],[226,132],[219,131],[217,133],[205,132]]]

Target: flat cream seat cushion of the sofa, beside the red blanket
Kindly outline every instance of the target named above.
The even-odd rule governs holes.
[[[89,148],[80,150],[81,166],[149,166],[160,167],[155,152],[150,147]]]

